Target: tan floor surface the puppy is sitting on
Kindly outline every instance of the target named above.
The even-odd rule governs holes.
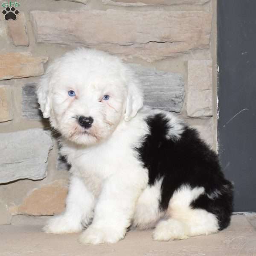
[[[0,256],[256,256],[256,214],[233,215],[230,227],[209,236],[157,242],[152,230],[131,230],[116,244],[79,244],[79,234],[41,231],[45,218],[15,216],[0,226]]]

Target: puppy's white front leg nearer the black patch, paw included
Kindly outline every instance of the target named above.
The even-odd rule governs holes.
[[[81,243],[115,243],[124,238],[142,191],[136,185],[123,177],[111,177],[105,182],[95,207],[93,223],[81,234]]]

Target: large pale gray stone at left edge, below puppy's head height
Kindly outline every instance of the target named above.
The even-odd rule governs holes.
[[[47,175],[52,138],[40,128],[0,134],[0,183]]]

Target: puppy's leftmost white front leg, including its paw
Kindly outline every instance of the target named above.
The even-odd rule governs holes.
[[[51,218],[43,230],[47,233],[76,233],[89,224],[93,216],[94,197],[76,176],[71,177],[66,210],[61,215]]]

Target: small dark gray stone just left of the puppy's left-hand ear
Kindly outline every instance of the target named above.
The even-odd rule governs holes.
[[[36,95],[36,84],[29,83],[22,87],[22,116],[26,119],[42,119]]]

